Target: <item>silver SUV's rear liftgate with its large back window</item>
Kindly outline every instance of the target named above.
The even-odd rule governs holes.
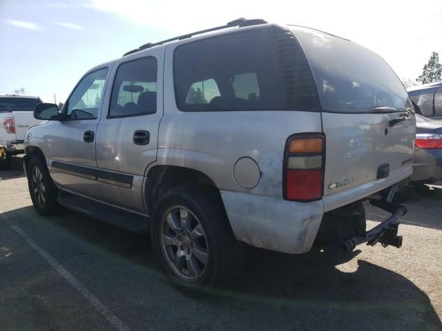
[[[347,39],[306,28],[291,30],[309,61],[321,103],[325,210],[409,176],[415,119],[390,66]]]

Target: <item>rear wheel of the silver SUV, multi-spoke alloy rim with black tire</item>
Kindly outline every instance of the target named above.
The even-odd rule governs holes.
[[[244,262],[244,243],[233,236],[220,194],[212,188],[166,192],[153,211],[151,239],[169,281],[195,296],[231,283]]]

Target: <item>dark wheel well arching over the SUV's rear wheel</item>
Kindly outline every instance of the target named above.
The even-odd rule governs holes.
[[[152,211],[158,199],[168,190],[182,185],[212,187],[219,194],[219,190],[212,179],[198,170],[175,165],[155,165],[149,170],[144,185],[148,210]]]

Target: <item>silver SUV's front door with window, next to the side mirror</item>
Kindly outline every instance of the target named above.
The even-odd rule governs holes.
[[[96,174],[95,136],[108,68],[90,72],[77,84],[48,133],[52,178],[64,190],[101,198]]]

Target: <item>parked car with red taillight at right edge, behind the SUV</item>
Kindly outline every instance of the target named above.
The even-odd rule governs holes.
[[[416,114],[413,174],[416,183],[436,183],[442,179],[442,121]]]

